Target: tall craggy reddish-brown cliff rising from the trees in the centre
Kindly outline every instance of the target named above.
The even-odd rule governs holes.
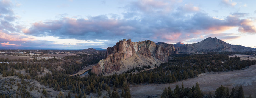
[[[113,71],[127,71],[136,65],[159,65],[168,61],[168,56],[175,53],[172,44],[159,44],[146,40],[132,42],[131,39],[119,41],[113,47],[108,47],[106,59],[93,66],[92,72],[108,74]]]

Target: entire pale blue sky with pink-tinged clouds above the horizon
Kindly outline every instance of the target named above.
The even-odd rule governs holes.
[[[218,38],[256,48],[255,0],[0,0],[0,49],[175,44]]]

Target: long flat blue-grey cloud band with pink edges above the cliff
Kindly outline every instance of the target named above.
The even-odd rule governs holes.
[[[171,13],[176,14],[176,13]],[[134,41],[145,39],[180,40],[196,38],[200,34],[221,33],[235,27],[239,32],[256,33],[251,20],[229,15],[224,19],[213,18],[206,13],[192,16],[155,16],[137,19],[111,19],[107,16],[94,16],[87,19],[62,18],[36,22],[25,34],[33,36],[54,36],[60,39],[112,40],[132,38]]]

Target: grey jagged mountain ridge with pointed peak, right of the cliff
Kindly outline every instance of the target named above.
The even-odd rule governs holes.
[[[206,38],[201,42],[186,44],[177,49],[179,52],[198,52],[198,51],[254,51],[254,48],[241,45],[231,45],[215,38]]]

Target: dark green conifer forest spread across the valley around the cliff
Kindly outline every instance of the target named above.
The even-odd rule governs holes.
[[[205,72],[241,70],[256,62],[255,60],[240,60],[240,57],[228,57],[227,54],[175,54],[170,57],[171,60],[169,60],[169,62],[161,63],[159,66],[155,65],[157,66],[155,69],[142,71],[145,68],[151,68],[151,66],[142,65],[141,67],[135,67],[122,74],[113,74],[110,76],[96,75],[90,71],[88,72],[89,76],[83,78],[68,75],[76,73],[81,70],[83,66],[88,64],[96,64],[99,60],[104,58],[102,54],[92,55],[90,57],[82,54],[77,57],[65,56],[60,59],[60,62],[63,62],[62,64],[56,63],[59,61],[56,58],[49,59],[48,61],[38,60],[29,63],[2,63],[0,64],[0,72],[3,77],[18,76],[21,79],[36,80],[42,85],[54,88],[55,91],[60,91],[60,89],[69,90],[68,96],[65,97],[72,97],[71,94],[77,95],[77,97],[85,97],[87,94],[97,93],[98,96],[104,97],[130,98],[130,84],[172,83],[195,78],[197,75]],[[65,70],[57,70],[57,66],[62,66]],[[8,68],[11,68],[11,70],[8,70]],[[47,73],[39,77],[37,72],[43,72],[45,68],[49,69],[52,74]],[[24,76],[23,74],[15,72],[14,69],[25,69],[29,75]],[[138,72],[135,72],[135,70]],[[116,89],[122,89],[122,94],[119,95]],[[108,92],[107,95],[101,95],[102,90],[106,90]],[[188,89],[186,90],[188,91]],[[194,91],[198,93],[200,92],[199,90],[200,89],[195,88],[192,90],[192,93]],[[44,96],[49,95],[44,91]],[[201,97],[201,95],[199,97]]]

